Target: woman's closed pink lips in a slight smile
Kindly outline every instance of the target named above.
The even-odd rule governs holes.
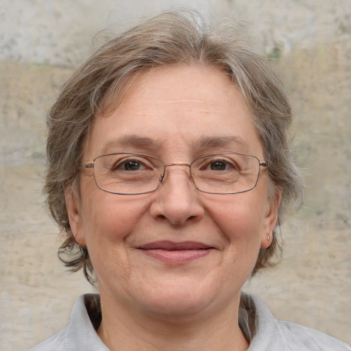
[[[164,263],[188,263],[210,254],[213,249],[210,245],[197,241],[155,241],[138,247],[144,254],[156,258]]]

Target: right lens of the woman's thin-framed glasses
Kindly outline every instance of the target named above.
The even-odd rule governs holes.
[[[254,189],[259,171],[258,158],[243,154],[207,155],[191,164],[195,186],[205,193],[231,194]]]

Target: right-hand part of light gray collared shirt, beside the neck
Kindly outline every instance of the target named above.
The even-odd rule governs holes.
[[[346,343],[323,332],[279,321],[265,303],[254,295],[243,293],[239,315],[241,326],[250,328],[247,335],[250,339],[248,351],[351,351]]]

